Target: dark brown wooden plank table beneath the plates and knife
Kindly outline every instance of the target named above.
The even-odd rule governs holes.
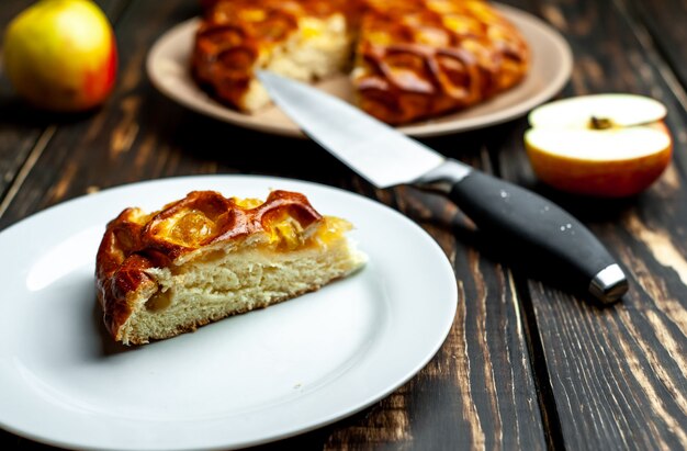
[[[0,30],[29,3],[4,0]],[[375,190],[311,143],[237,128],[162,97],[146,77],[147,52],[166,30],[199,13],[196,1],[100,3],[121,53],[116,91],[104,108],[77,116],[37,113],[0,80],[0,229],[123,183],[256,173],[340,187],[388,204],[436,238],[454,267],[458,313],[424,370],[359,414],[264,448],[687,448],[686,0],[506,1],[549,22],[572,46],[574,72],[560,97],[621,91],[667,105],[673,164],[638,198],[595,202],[539,184],[523,151],[525,119],[427,139],[577,215],[630,279],[622,302],[607,308],[503,261],[465,232],[460,211],[441,198]],[[243,151],[246,143],[259,150]],[[299,155],[286,146],[297,146]],[[4,431],[0,443],[43,448]]]

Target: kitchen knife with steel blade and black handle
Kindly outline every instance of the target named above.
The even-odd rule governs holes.
[[[579,221],[517,184],[412,139],[347,102],[268,71],[258,78],[303,132],[378,188],[413,184],[442,192],[484,233],[545,258],[547,266],[602,303],[628,291],[620,266]]]

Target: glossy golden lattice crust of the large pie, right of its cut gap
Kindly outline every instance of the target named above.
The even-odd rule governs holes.
[[[390,124],[436,117],[520,82],[527,43],[478,0],[368,0],[356,52],[358,103]]]

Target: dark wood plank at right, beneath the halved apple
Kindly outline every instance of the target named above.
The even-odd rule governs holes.
[[[656,69],[661,56],[651,41],[641,40],[644,31],[624,0],[541,1],[538,11],[565,35],[575,54],[565,97],[607,91],[652,95],[668,106],[674,134],[685,133],[685,112]],[[684,23],[687,15],[673,20]],[[676,140],[672,167],[649,191],[635,199],[600,202],[537,183],[523,151],[525,128],[525,123],[513,128],[509,144],[494,149],[499,173],[581,217],[627,267],[631,280],[630,293],[608,308],[560,291],[552,279],[523,284],[522,293],[530,293],[522,296],[529,339],[540,352],[533,358],[548,369],[540,382],[552,393],[562,444],[685,449],[685,143]],[[514,268],[516,280],[531,277]]]

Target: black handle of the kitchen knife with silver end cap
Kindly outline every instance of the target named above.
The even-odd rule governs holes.
[[[451,179],[450,172],[459,177]],[[484,172],[465,171],[463,164],[452,160],[435,174],[440,174],[444,192],[480,230],[513,244],[522,259],[544,259],[543,264],[555,266],[561,278],[602,303],[628,291],[624,273],[604,245],[550,200]],[[428,174],[421,182],[430,179]]]

